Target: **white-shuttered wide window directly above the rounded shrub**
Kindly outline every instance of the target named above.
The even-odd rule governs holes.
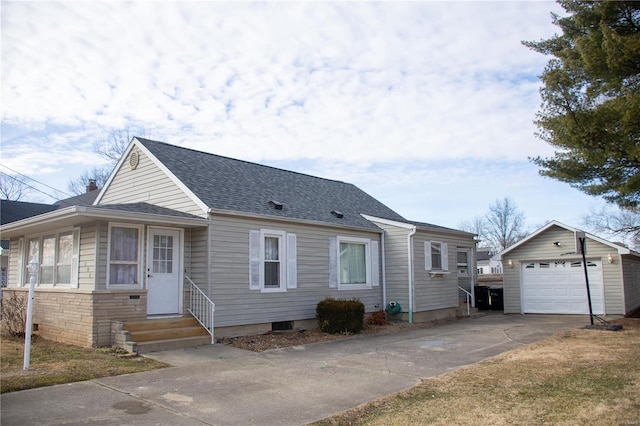
[[[378,242],[366,238],[337,237],[329,245],[330,287],[369,289],[378,285]]]

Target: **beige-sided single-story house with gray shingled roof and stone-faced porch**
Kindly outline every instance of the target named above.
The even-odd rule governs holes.
[[[217,336],[315,327],[327,296],[447,317],[475,271],[473,234],[409,222],[352,184],[141,138],[93,205],[2,234],[9,291],[39,259],[34,324],[82,346],[112,344],[115,321],[188,316],[200,291]]]

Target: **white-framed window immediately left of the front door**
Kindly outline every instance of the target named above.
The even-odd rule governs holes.
[[[109,227],[109,286],[140,285],[141,234],[142,229],[139,226]]]

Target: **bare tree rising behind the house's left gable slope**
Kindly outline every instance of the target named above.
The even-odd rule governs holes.
[[[84,193],[87,183],[89,183],[90,180],[95,180],[98,188],[102,188],[107,182],[111,170],[113,170],[113,167],[122,154],[124,154],[130,140],[129,129],[126,129],[124,131],[113,131],[101,140],[96,141],[93,144],[93,151],[108,160],[109,163],[103,167],[94,167],[91,170],[83,172],[80,176],[69,180],[67,184],[69,191],[76,195]]]

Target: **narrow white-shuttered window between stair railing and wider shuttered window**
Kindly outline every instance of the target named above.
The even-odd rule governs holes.
[[[296,235],[261,229],[249,232],[249,288],[263,293],[298,285]]]

